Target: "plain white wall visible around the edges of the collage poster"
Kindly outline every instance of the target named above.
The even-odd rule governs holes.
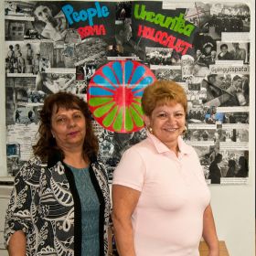
[[[209,1],[209,0],[208,0]],[[223,0],[219,0],[222,2]],[[224,2],[224,1],[223,1]],[[233,2],[236,2],[234,0]],[[237,1],[239,2],[239,1]],[[244,1],[243,1],[244,2]],[[250,3],[250,2],[248,2]],[[255,3],[251,0],[251,31],[255,31]],[[5,162],[5,67],[4,1],[0,1],[0,176]],[[253,34],[253,35],[252,35]],[[255,33],[251,33],[251,133],[249,185],[210,186],[211,204],[219,240],[225,240],[230,256],[255,255]],[[1,178],[0,178],[1,179]],[[1,194],[1,188],[0,188]]]

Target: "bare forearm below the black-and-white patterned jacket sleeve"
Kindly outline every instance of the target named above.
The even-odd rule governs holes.
[[[26,256],[26,235],[23,231],[16,231],[9,240],[9,256]]]

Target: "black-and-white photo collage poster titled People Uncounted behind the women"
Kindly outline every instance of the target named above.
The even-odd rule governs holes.
[[[123,151],[146,136],[144,87],[175,80],[208,184],[216,164],[220,185],[247,184],[250,33],[240,2],[5,1],[8,175],[32,155],[45,97],[69,91],[88,101],[112,183]]]

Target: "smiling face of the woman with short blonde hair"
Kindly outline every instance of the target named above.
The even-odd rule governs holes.
[[[145,124],[169,148],[176,146],[178,136],[185,130],[185,123],[184,107],[175,101],[156,106],[150,117],[145,116]]]

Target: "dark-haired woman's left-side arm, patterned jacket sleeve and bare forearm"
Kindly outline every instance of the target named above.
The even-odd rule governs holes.
[[[34,184],[38,184],[39,175],[35,175],[38,171],[42,172],[40,165],[35,160],[28,161],[21,167],[15,177],[15,186],[13,188],[8,208],[5,215],[5,246],[10,255],[26,255],[27,234],[31,233],[33,223],[31,219],[30,209],[33,198],[31,197],[32,185],[30,178]],[[33,166],[33,168],[32,168]],[[30,176],[31,170],[34,170],[34,176]]]

